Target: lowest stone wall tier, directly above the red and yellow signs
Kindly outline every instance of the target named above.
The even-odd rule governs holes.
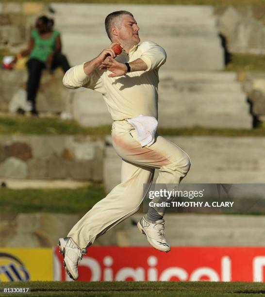
[[[136,227],[141,216],[126,219],[93,246],[149,246]],[[1,247],[54,247],[80,218],[78,214],[0,214]],[[165,218],[166,238],[172,246],[265,245],[263,216],[166,214]]]

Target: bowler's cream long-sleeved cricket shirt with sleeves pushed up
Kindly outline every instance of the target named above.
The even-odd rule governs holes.
[[[63,78],[67,88],[81,86],[103,95],[113,120],[139,115],[157,118],[158,69],[166,62],[166,51],[154,42],[135,45],[127,54],[124,50],[116,57],[120,63],[142,59],[148,66],[145,71],[134,71],[118,77],[108,77],[109,70],[94,70],[89,76],[83,64],[71,67]]]

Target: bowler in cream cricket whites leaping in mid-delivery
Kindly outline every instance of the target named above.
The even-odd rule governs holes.
[[[113,146],[122,158],[121,183],[96,203],[66,238],[59,239],[66,272],[74,280],[86,247],[138,211],[146,194],[143,184],[152,182],[155,168],[159,169],[156,183],[174,184],[190,168],[188,155],[161,136],[157,135],[150,146],[142,147],[135,128],[126,120],[139,115],[157,119],[158,70],[166,62],[165,50],[149,41],[139,45],[139,27],[127,11],[108,15],[105,27],[112,41],[110,47],[93,60],[70,68],[63,79],[67,88],[85,87],[102,94],[114,120]],[[113,49],[116,44],[123,48],[118,56]],[[153,247],[168,252],[163,215],[150,208],[137,227]]]

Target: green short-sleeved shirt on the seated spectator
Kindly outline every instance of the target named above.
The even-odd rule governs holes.
[[[56,37],[60,35],[59,31],[54,30],[50,38],[41,38],[38,31],[34,29],[31,33],[32,38],[34,39],[34,46],[29,55],[30,58],[46,62],[48,56],[56,48]]]

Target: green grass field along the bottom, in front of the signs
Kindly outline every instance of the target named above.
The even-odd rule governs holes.
[[[265,294],[264,283],[250,282],[15,282],[0,283],[0,287],[30,287],[29,294],[3,294],[0,296],[161,296],[161,297],[260,297]]]

